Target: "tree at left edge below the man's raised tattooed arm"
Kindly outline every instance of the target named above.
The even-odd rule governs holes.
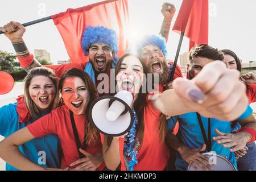
[[[18,61],[16,61],[16,55],[13,53],[0,51],[0,71],[13,73],[20,71],[22,67]]]

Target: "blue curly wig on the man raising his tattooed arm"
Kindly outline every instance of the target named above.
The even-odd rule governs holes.
[[[114,55],[118,52],[118,38],[117,33],[114,30],[103,26],[87,26],[81,41],[82,50],[84,51],[85,56],[88,56],[87,52],[90,46],[96,42],[108,45],[114,52]]]

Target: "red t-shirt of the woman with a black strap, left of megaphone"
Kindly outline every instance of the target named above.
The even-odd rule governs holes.
[[[79,139],[82,144],[85,134],[85,115],[74,114],[74,119],[77,133],[79,134]],[[63,150],[61,168],[67,168],[71,163],[80,159],[69,116],[69,109],[66,105],[57,107],[50,114],[44,115],[44,117],[38,119],[34,123],[31,123],[31,125],[28,125],[27,128],[36,138],[41,138],[48,134],[56,134],[59,137]],[[86,151],[93,155],[102,152],[100,135],[95,144],[87,146]],[[97,170],[103,170],[104,168],[105,163],[102,163]]]

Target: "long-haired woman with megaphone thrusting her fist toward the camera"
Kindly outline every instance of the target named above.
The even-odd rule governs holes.
[[[160,114],[177,115],[196,111],[205,117],[230,121],[240,117],[247,106],[244,86],[236,71],[221,61],[209,63],[193,80],[177,78],[174,89],[163,93],[142,93],[147,81],[143,61],[126,54],[118,61],[115,79],[119,90],[129,90],[134,100],[133,126],[126,135],[105,137],[103,157],[106,167],[115,170],[164,170],[169,152]],[[121,154],[120,154],[121,153]]]

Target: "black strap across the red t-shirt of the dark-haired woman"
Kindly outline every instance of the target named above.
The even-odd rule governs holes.
[[[79,140],[79,135],[78,135],[77,129],[76,129],[76,123],[75,123],[74,115],[73,115],[73,113],[72,113],[71,110],[69,110],[69,115],[70,115],[70,119],[71,119],[73,134],[74,134],[74,137],[75,137],[75,140],[76,140],[76,148],[77,148],[77,151],[78,151],[78,153],[79,153],[80,159],[81,159],[81,158],[85,158],[85,155],[82,154],[82,153],[79,151],[79,148],[82,148],[82,150],[86,150],[87,132],[85,132],[85,135],[84,135],[84,144],[83,144],[83,146],[81,147],[80,140]]]

